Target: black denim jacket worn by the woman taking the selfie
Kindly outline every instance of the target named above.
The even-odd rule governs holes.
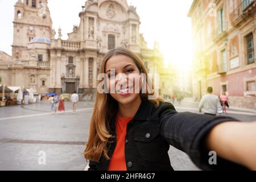
[[[210,165],[205,136],[221,122],[237,121],[230,117],[177,113],[174,106],[163,102],[158,108],[142,101],[133,120],[127,125],[125,160],[128,171],[173,170],[168,156],[170,145],[185,152],[197,167],[211,169],[246,169],[238,164],[217,157],[217,164]],[[115,117],[110,122],[110,134],[115,134]],[[111,158],[116,138],[110,140],[108,155]],[[90,161],[89,171],[107,171],[109,160],[102,155],[100,163]]]

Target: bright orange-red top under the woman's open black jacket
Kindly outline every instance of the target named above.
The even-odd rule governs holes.
[[[110,159],[109,171],[127,171],[125,162],[125,136],[126,127],[133,118],[121,118],[117,115],[115,119],[115,133],[117,134],[117,145]]]

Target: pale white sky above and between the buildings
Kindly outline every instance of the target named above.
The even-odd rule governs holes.
[[[18,0],[0,0],[0,51],[11,55],[14,5]],[[137,7],[140,33],[148,48],[157,41],[166,63],[191,65],[191,19],[187,17],[193,0],[127,0]],[[48,0],[53,28],[61,27],[63,39],[79,25],[79,12],[85,0]],[[185,63],[185,64],[184,64]]]

